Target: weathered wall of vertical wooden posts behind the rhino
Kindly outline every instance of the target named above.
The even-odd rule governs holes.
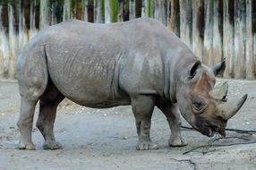
[[[204,64],[226,58],[224,77],[255,79],[255,0],[0,0],[0,79],[15,78],[22,47],[47,25],[141,16],[163,22]]]

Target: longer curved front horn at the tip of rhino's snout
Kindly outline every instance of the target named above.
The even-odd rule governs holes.
[[[220,104],[219,106],[219,115],[225,120],[233,117],[237,111],[243,106],[248,95],[244,95],[240,100],[228,100],[228,102]]]

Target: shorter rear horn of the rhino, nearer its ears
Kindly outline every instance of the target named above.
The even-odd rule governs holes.
[[[223,83],[216,85],[212,90],[210,90],[209,95],[212,98],[226,101],[227,89],[228,89],[228,84],[226,82],[223,82]]]

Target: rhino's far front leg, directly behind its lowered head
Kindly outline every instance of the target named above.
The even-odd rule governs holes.
[[[174,104],[164,104],[158,106],[158,108],[166,115],[167,122],[171,129],[171,136],[168,140],[170,147],[183,147],[187,143],[183,140],[181,135],[181,118],[178,107]]]

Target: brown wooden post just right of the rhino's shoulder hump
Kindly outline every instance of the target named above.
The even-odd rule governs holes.
[[[168,1],[168,24],[167,27],[173,30],[176,36],[180,37],[180,4],[179,0]]]

